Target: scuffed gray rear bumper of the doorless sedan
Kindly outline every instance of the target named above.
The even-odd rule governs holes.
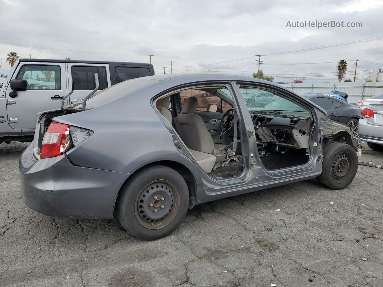
[[[21,197],[31,209],[59,218],[113,218],[129,174],[74,166],[65,155],[32,163],[31,153],[29,145],[19,160]]]

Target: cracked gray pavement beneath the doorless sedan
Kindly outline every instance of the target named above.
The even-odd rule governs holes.
[[[339,191],[310,180],[198,205],[149,242],[117,220],[29,209],[25,147],[0,145],[0,286],[383,286],[382,169],[359,166]],[[362,160],[383,164],[383,153]]]

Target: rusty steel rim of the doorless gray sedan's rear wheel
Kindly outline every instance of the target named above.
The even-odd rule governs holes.
[[[179,207],[178,189],[170,181],[158,179],[141,189],[134,205],[134,213],[143,227],[159,229],[172,222]]]

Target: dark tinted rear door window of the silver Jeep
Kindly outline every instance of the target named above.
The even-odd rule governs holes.
[[[72,80],[75,80],[75,90],[93,90],[96,88],[95,76],[98,74],[98,82],[100,86],[98,89],[103,90],[108,88],[108,80],[106,78],[105,67],[95,66],[72,66]]]

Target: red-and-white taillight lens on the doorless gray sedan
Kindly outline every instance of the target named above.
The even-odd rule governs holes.
[[[52,122],[44,134],[40,158],[57,157],[70,145],[69,126]]]

